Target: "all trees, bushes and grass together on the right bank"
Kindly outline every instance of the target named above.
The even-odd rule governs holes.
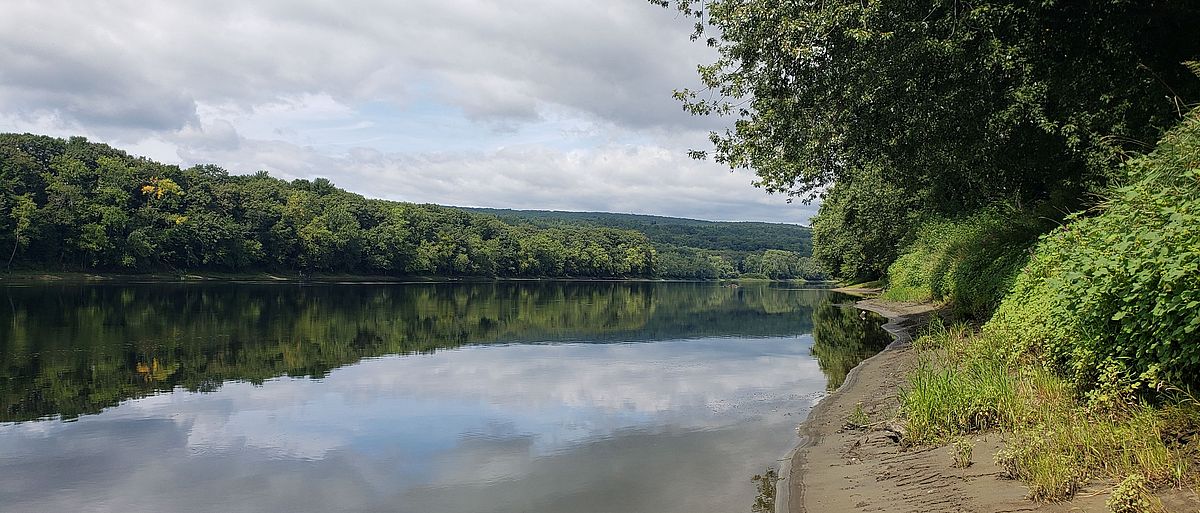
[[[1196,489],[1200,4],[649,1],[718,54],[676,92],[728,120],[692,155],[820,200],[836,277],[947,307],[905,443],[1000,429],[1036,500]]]

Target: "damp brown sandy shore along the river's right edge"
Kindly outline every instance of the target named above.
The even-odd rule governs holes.
[[[888,318],[884,328],[895,342],[864,361],[845,385],[824,398],[799,428],[802,443],[785,465],[780,512],[1105,512],[1106,489],[1085,489],[1072,502],[1036,503],[1026,488],[1000,477],[992,455],[998,434],[974,436],[974,463],[952,466],[948,447],[902,448],[889,429],[898,408],[896,392],[914,364],[910,348],[916,331],[935,307],[859,301],[858,308]],[[846,421],[862,404],[871,427],[854,429]]]

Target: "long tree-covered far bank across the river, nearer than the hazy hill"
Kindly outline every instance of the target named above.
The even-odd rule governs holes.
[[[434,277],[820,277],[806,255],[667,247],[620,223],[502,222],[368,199],[329,180],[181,169],[83,138],[0,134],[8,268]],[[738,241],[737,228],[706,225]],[[713,225],[716,225],[714,228]],[[637,227],[630,227],[637,228]],[[676,237],[673,241],[683,241]],[[797,251],[805,246],[797,239]]]

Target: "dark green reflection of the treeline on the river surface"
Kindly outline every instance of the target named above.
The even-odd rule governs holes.
[[[68,284],[10,288],[0,309],[0,422],[95,414],[124,399],[232,380],[320,378],[382,355],[464,344],[784,337],[816,330],[830,382],[878,330],[821,292],[710,284]]]

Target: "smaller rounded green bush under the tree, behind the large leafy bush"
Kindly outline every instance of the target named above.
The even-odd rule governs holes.
[[[1020,212],[983,211],[926,222],[888,267],[893,301],[948,301],[959,315],[985,319],[1028,260],[1044,225]]]

